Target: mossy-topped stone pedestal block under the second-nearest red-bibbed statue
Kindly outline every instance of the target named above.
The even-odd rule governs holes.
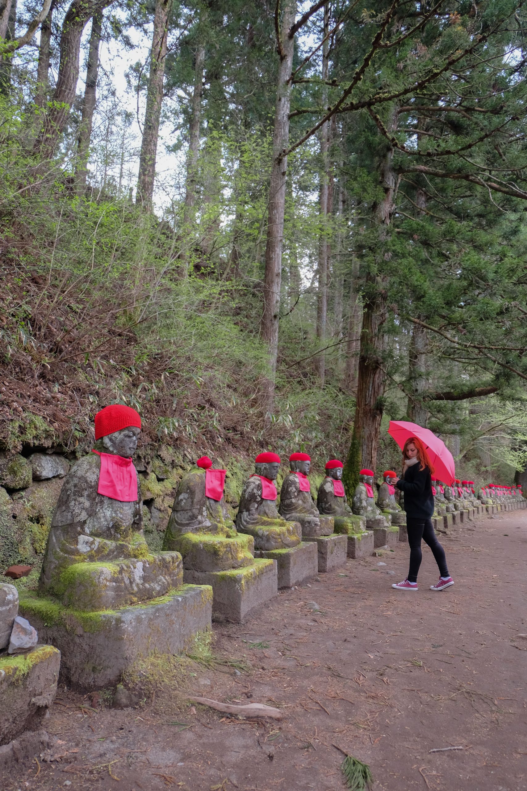
[[[258,604],[277,596],[277,562],[256,558],[250,566],[228,571],[185,570],[183,579],[195,585],[211,585],[213,615],[218,620],[240,623]]]

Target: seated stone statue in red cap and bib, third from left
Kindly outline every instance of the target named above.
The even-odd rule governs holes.
[[[277,511],[277,479],[280,456],[260,453],[255,460],[255,473],[243,486],[239,501],[236,528],[254,536],[254,549],[268,551],[288,549],[300,543],[299,522],[288,521]]]

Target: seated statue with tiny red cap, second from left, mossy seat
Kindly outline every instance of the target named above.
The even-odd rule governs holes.
[[[164,550],[183,555],[183,569],[223,571],[254,562],[252,536],[236,533],[224,499],[225,470],[213,470],[209,456],[179,482]]]

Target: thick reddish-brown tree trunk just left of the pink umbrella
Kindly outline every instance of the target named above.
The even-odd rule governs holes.
[[[393,112],[390,131],[395,131],[397,112]],[[387,339],[384,325],[388,318],[387,277],[382,274],[382,262],[391,253],[386,250],[390,238],[390,221],[395,209],[397,179],[393,171],[393,149],[387,148],[382,157],[379,181],[384,198],[374,207],[373,221],[377,226],[378,244],[375,250],[377,271],[367,274],[363,297],[363,326],[360,333],[359,378],[356,410],[353,420],[352,442],[344,467],[344,486],[352,497],[359,482],[359,469],[377,465],[378,436],[381,428],[386,373],[384,356]],[[379,273],[379,274],[378,274]]]

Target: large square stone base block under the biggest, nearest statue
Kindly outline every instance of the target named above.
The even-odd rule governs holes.
[[[120,610],[83,612],[22,592],[19,612],[39,638],[62,654],[61,678],[73,687],[98,689],[119,683],[123,671],[154,651],[174,655],[211,628],[213,592],[182,585],[159,599]]]

